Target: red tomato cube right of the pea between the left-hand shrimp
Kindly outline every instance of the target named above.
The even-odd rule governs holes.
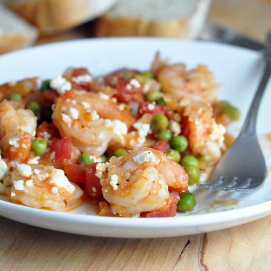
[[[54,162],[61,163],[64,160],[69,160],[71,158],[71,138],[65,136],[55,140],[52,143],[51,151],[55,152]]]

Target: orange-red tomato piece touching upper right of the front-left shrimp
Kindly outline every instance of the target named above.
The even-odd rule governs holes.
[[[70,182],[78,185],[86,182],[86,166],[82,164],[67,164],[64,171]]]

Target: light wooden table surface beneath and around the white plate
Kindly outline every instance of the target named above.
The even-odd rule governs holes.
[[[245,1],[250,5],[244,5]],[[214,0],[209,18],[263,40],[271,25],[270,14],[270,0]],[[91,36],[89,26],[40,38],[37,43]],[[202,235],[122,239],[59,233],[0,217],[0,270],[268,271],[271,270],[270,224],[268,216]]]

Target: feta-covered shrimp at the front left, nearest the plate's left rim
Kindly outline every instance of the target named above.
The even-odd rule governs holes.
[[[10,199],[14,203],[68,211],[82,202],[81,188],[70,183],[62,169],[53,166],[19,164],[11,181]]]

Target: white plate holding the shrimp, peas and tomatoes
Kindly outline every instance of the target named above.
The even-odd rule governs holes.
[[[171,62],[185,62],[189,68],[207,64],[221,86],[223,99],[242,112],[242,119],[230,127],[237,134],[257,87],[262,63],[259,53],[207,42],[161,38],[85,39],[37,46],[0,57],[0,83],[25,77],[43,79],[61,74],[67,67],[87,67],[94,75],[116,68],[147,69],[159,50]],[[257,132],[271,166],[271,82],[258,116]],[[249,148],[249,146],[247,146]],[[171,218],[117,218],[96,216],[85,204],[68,213],[34,209],[0,200],[0,215],[26,224],[68,233],[102,237],[173,237],[216,231],[247,223],[271,214],[269,176],[253,194],[194,191],[197,207],[191,213]],[[191,188],[193,191],[194,188]],[[237,205],[231,204],[232,199]],[[220,201],[220,202],[219,202]]]

